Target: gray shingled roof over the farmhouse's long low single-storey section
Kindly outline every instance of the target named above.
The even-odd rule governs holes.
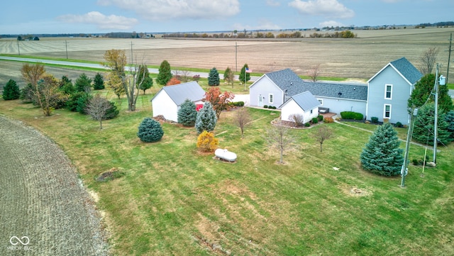
[[[310,91],[314,96],[367,101],[367,84],[304,82],[292,69],[266,73],[265,76],[282,91],[287,91],[289,97]]]

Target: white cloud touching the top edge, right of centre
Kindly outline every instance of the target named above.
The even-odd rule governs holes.
[[[338,0],[294,0],[289,3],[302,14],[313,16],[325,16],[331,18],[352,18],[355,16],[353,10],[348,9]]]

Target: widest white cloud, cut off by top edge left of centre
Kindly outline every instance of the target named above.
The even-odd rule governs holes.
[[[134,11],[148,20],[223,18],[240,12],[238,0],[99,0],[102,6]]]

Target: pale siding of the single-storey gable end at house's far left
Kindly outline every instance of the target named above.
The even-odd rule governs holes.
[[[260,77],[249,89],[250,106],[258,106],[258,97],[262,97],[262,105],[281,106],[283,101],[282,90],[266,75]],[[273,94],[273,103],[269,101],[269,94]]]

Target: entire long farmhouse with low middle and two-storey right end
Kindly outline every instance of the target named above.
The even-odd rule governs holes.
[[[405,57],[389,62],[367,84],[304,82],[291,69],[283,69],[263,74],[249,87],[250,105],[282,108],[282,120],[288,120],[289,117],[284,115],[292,111],[284,109],[287,105],[284,103],[310,91],[319,101],[317,107],[329,108],[330,112],[354,111],[369,120],[377,117],[379,121],[408,124],[407,100],[421,77],[422,74]],[[314,103],[309,98],[306,94],[305,100]],[[301,99],[299,104],[303,104]],[[301,110],[295,108],[294,111]]]

